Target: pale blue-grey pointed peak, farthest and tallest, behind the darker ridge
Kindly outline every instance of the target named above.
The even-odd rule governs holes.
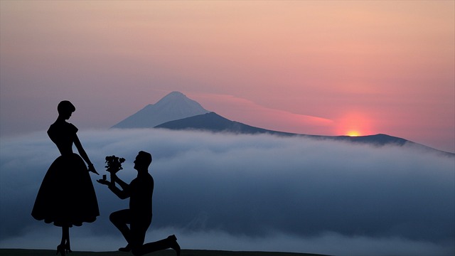
[[[146,105],[112,128],[153,128],[164,122],[208,113],[198,102],[181,92],[171,92],[155,104]]]

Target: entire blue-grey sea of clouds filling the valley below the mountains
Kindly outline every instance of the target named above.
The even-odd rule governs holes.
[[[454,255],[455,158],[410,146],[368,146],[302,137],[161,129],[79,132],[100,174],[105,156],[138,151],[153,162],[154,217],[146,241],[176,234],[183,249],[328,255]],[[31,209],[58,149],[45,131],[2,137],[0,247],[54,249],[60,228]],[[96,182],[100,217],[71,228],[73,250],[126,242],[109,213],[127,208]]]

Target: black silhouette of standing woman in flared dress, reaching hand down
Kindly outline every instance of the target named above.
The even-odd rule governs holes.
[[[75,110],[68,100],[58,104],[58,118],[50,125],[48,135],[61,156],[53,161],[45,174],[31,212],[36,220],[62,227],[57,254],[60,252],[63,256],[71,252],[70,227],[80,226],[83,222],[91,223],[100,215],[88,171],[98,173],[77,138],[77,128],[66,122]],[[73,144],[80,156],[73,153]]]

